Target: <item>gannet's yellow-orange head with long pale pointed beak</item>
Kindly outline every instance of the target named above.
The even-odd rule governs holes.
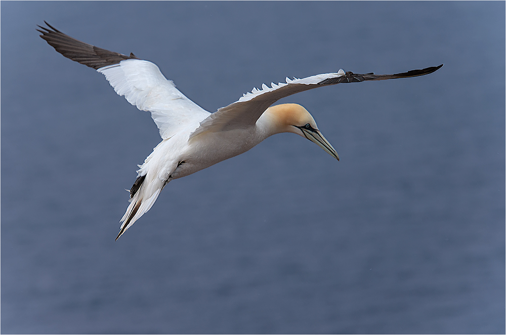
[[[318,130],[313,116],[298,104],[281,104],[269,107],[264,114],[270,118],[276,133],[294,133],[316,143],[332,157],[339,155]]]

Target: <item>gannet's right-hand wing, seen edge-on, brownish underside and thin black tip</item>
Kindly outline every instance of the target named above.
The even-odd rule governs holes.
[[[271,83],[271,87],[264,84],[262,90],[255,88],[251,93],[244,94],[238,101],[210,114],[205,120],[200,122],[200,127],[191,136],[194,137],[204,132],[220,132],[251,127],[257,122],[260,115],[277,100],[299,92],[327,85],[335,85],[341,82],[416,77],[432,73],[442,66],[443,64],[395,74],[358,74],[345,72],[341,69],[336,73],[317,74],[302,79],[292,80],[286,78],[286,82],[280,82],[277,85]]]

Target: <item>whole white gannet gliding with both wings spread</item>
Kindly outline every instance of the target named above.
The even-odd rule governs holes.
[[[335,73],[289,79],[271,87],[263,84],[236,102],[209,113],[184,96],[160,72],[158,66],[83,43],[55,29],[46,21],[38,26],[49,45],[63,56],[105,75],[114,91],[140,110],[151,112],[162,141],[139,166],[130,190],[130,205],[121,218],[116,240],[149,211],[163,187],[172,179],[188,176],[227,158],[241,154],[267,137],[288,132],[316,143],[332,157],[339,155],[318,130],[313,116],[301,105],[271,106],[286,96],[341,82],[386,80],[425,75],[439,66],[396,74]]]

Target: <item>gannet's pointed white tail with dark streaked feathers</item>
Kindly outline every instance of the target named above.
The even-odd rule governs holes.
[[[149,178],[148,175],[137,178],[134,186],[130,190],[130,205],[126,208],[126,212],[121,218],[121,228],[116,240],[119,236],[129,229],[144,213],[149,211],[160,194],[165,182],[158,178]]]

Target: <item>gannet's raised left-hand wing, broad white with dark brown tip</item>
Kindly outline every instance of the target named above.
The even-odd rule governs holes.
[[[210,113],[183,95],[167,80],[156,64],[97,48],[55,29],[39,26],[49,45],[63,56],[92,67],[105,75],[114,91],[140,110],[151,112],[162,139],[173,136],[180,128],[206,118]]]

